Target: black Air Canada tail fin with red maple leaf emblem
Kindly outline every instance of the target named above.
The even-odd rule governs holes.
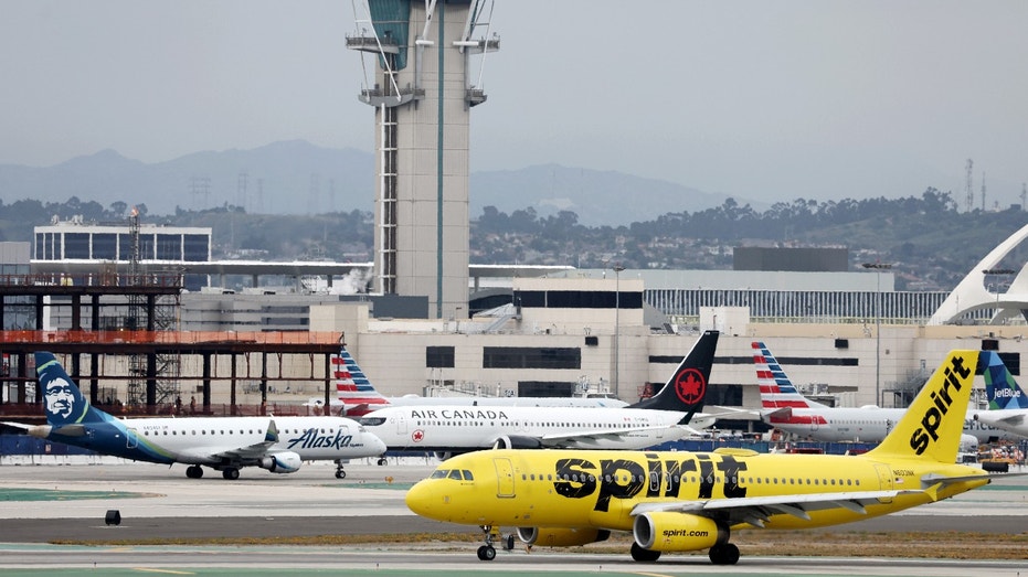
[[[644,398],[629,407],[688,413],[682,420],[683,424],[688,423],[695,413],[703,408],[710,367],[714,363],[714,350],[718,348],[720,335],[719,331],[706,331],[692,345],[692,350],[671,374],[671,378],[664,385],[664,388],[656,395]]]

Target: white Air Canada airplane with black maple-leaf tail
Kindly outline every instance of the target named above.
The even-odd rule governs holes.
[[[704,332],[664,388],[622,408],[602,407],[390,407],[360,423],[390,450],[451,455],[499,448],[639,449],[679,439],[713,425],[703,406],[718,331]],[[699,423],[697,423],[699,421]]]

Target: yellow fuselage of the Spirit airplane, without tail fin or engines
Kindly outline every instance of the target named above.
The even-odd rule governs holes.
[[[922,478],[929,474],[979,478],[930,494],[921,491]],[[680,515],[690,511],[689,503],[796,494],[838,494],[846,500],[847,493],[899,491],[866,507],[814,510],[806,517],[777,514],[761,522],[766,528],[809,528],[883,515],[987,482],[978,468],[916,459],[884,462],[860,456],[752,451],[496,450],[445,461],[411,490],[407,504],[420,515],[452,523],[632,531],[637,507],[661,503],[685,503],[675,513],[681,526]],[[735,522],[731,528],[749,526],[754,525]]]

